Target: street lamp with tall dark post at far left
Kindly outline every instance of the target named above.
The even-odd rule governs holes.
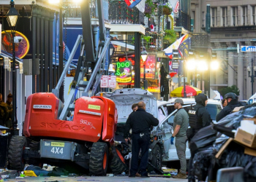
[[[18,131],[18,120],[16,116],[16,67],[15,67],[15,43],[14,43],[14,37],[15,37],[15,31],[16,31],[16,23],[18,20],[18,16],[20,15],[15,9],[14,1],[10,1],[10,9],[7,12],[7,22],[11,28],[11,34],[12,34],[12,129],[13,129],[13,135],[19,135]]]

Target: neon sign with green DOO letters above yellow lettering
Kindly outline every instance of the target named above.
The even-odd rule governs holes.
[[[128,83],[132,81],[132,62],[125,60],[116,63],[116,82]]]

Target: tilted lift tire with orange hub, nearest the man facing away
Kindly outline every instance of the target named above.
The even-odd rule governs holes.
[[[118,149],[116,149],[115,146],[111,147],[111,151],[112,151],[112,159],[110,160],[110,168],[112,170],[112,173],[114,174],[121,174],[123,172],[128,173],[128,166],[125,164],[124,159],[122,160],[116,151]],[[119,151],[120,152],[120,151]],[[119,155],[121,155],[121,152],[119,153]]]

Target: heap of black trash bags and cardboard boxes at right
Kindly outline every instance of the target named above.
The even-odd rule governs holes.
[[[192,171],[199,181],[215,181],[217,170],[244,167],[244,180],[256,178],[256,104],[244,106],[217,124],[201,129],[191,141]],[[215,127],[217,126],[217,127]],[[215,133],[213,130],[214,128]],[[233,175],[233,172],[229,172]]]

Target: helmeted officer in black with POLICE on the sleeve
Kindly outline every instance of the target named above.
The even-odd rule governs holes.
[[[197,133],[201,128],[207,127],[211,124],[211,116],[206,110],[206,105],[208,103],[207,95],[200,93],[195,96],[196,105],[194,108],[189,109],[189,129],[187,130],[187,138],[191,141],[191,138]],[[189,159],[189,182],[195,182],[195,175],[190,173],[192,168],[192,162],[195,154],[190,151],[191,157]]]

